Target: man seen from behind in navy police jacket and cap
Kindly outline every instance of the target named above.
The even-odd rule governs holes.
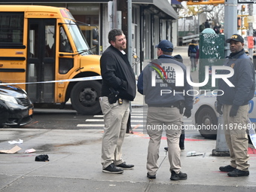
[[[190,117],[191,115],[193,96],[188,96],[187,90],[192,90],[193,87],[187,84],[186,80],[184,87],[175,87],[175,81],[178,80],[177,77],[175,78],[175,70],[170,65],[175,64],[180,67],[184,75],[186,75],[186,67],[172,56],[172,42],[163,40],[156,47],[158,59],[154,59],[143,69],[137,84],[139,93],[145,95],[145,102],[148,104],[146,128],[150,139],[148,142],[147,177],[156,178],[159,168],[157,164],[159,147],[163,130],[165,130],[169,149],[170,179],[184,180],[187,179],[187,174],[181,172],[179,139],[183,125],[182,116]],[[161,94],[163,88],[171,91]],[[175,94],[182,90],[184,90],[184,94]]]

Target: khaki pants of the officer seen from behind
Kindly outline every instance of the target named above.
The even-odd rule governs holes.
[[[159,147],[163,130],[166,130],[170,171],[180,172],[181,150],[179,138],[183,125],[182,114],[178,108],[149,107],[147,116],[147,133],[150,137],[148,142],[147,170],[149,175],[155,175],[158,169]]]

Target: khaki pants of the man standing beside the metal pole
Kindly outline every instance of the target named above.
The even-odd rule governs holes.
[[[230,150],[230,166],[248,171],[248,136],[245,128],[248,124],[248,105],[239,106],[235,117],[230,117],[231,107],[232,105],[224,105],[223,108],[223,128]]]

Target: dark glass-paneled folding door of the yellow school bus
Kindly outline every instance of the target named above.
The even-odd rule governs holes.
[[[27,82],[55,79],[56,19],[29,19]],[[27,84],[33,103],[53,103],[54,83]]]

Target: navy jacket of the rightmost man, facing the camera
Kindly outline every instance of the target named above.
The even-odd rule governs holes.
[[[234,75],[228,80],[235,86],[230,87],[223,79],[218,81],[219,92],[217,96],[218,103],[226,105],[247,105],[248,101],[254,97],[255,81],[254,66],[251,59],[241,50],[235,55],[230,54],[224,66],[233,68]],[[222,70],[221,74],[229,74],[228,70]]]

